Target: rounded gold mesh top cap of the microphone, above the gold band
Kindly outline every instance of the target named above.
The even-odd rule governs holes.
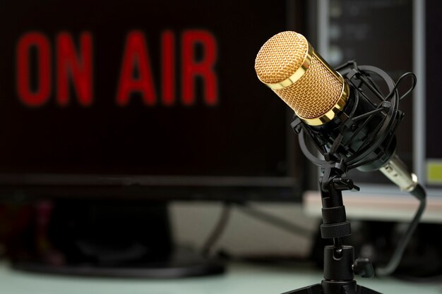
[[[255,59],[255,71],[261,82],[275,84],[289,78],[301,67],[309,42],[297,32],[280,32],[268,39]]]

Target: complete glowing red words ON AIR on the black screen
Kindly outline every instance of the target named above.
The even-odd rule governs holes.
[[[196,78],[203,82],[203,102],[213,106],[218,102],[218,78],[215,71],[217,42],[208,30],[184,30],[180,35],[180,67],[177,69],[177,34],[171,30],[160,36],[160,89],[155,88],[148,44],[143,32],[133,30],[126,35],[126,44],[121,57],[119,82],[115,89],[115,103],[129,104],[131,94],[141,94],[146,106],[177,103],[177,71],[181,78],[181,104],[192,105],[196,99]],[[91,32],[83,32],[78,38],[78,47],[69,32],[60,32],[55,37],[54,47],[42,32],[26,32],[18,39],[16,47],[16,92],[25,106],[37,107],[46,104],[50,97],[56,104],[66,106],[70,99],[69,88],[73,87],[78,104],[92,106],[94,103],[94,44]],[[196,45],[201,48],[201,57],[196,58]],[[32,55],[32,50],[35,55]],[[54,55],[52,54],[54,50]],[[32,56],[35,62],[32,63]],[[52,59],[52,56],[55,56]],[[54,63],[54,64],[53,64]],[[32,68],[35,66],[35,68]],[[54,74],[52,73],[54,68]],[[134,73],[138,74],[134,74]],[[35,75],[35,76],[32,76]],[[52,77],[55,77],[52,80]],[[32,82],[35,80],[35,82]],[[54,93],[52,92],[54,90]]]

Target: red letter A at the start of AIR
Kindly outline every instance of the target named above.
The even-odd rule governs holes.
[[[135,68],[138,69],[138,78],[133,77]],[[126,39],[117,90],[117,104],[127,105],[132,92],[141,92],[146,105],[153,105],[156,102],[148,48],[143,33],[139,31],[129,32]]]

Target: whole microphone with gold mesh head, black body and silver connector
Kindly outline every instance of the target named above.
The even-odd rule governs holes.
[[[365,95],[331,68],[304,36],[281,32],[270,38],[256,56],[255,70],[259,80],[294,110],[318,147],[353,160],[360,171],[381,171],[401,190],[417,188],[417,177],[395,154],[394,133],[382,126],[386,116],[398,124],[402,113],[378,111],[379,105],[361,97]],[[366,114],[373,115],[366,121],[354,119]],[[387,133],[378,135],[382,132]]]

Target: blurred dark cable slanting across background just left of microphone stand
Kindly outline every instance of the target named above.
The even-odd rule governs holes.
[[[237,207],[249,216],[253,216],[256,219],[270,223],[273,226],[282,228],[285,231],[289,231],[290,233],[295,233],[297,235],[302,235],[305,237],[311,237],[312,235],[312,233],[306,228],[297,226],[296,224],[286,221],[285,219],[281,219],[280,217],[274,216],[273,214],[268,214],[267,212],[263,212],[256,208],[250,207],[247,204],[239,204]]]

